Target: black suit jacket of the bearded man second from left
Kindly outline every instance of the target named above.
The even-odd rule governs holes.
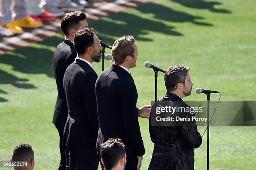
[[[97,74],[85,61],[76,59],[64,75],[69,115],[65,125],[70,151],[95,150],[99,122],[95,96]]]

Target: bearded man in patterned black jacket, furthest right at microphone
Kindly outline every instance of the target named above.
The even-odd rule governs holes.
[[[170,66],[164,75],[167,93],[157,102],[168,101],[170,105],[175,103],[174,106],[189,107],[183,101],[184,97],[191,94],[194,85],[188,72],[187,66]],[[196,123],[154,126],[151,124],[155,114],[152,111],[149,132],[154,143],[154,151],[148,170],[194,170],[193,149],[200,147],[202,143]]]

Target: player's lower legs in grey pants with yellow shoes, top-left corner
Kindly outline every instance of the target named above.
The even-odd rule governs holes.
[[[14,3],[13,9],[11,3]],[[14,20],[13,13],[15,13]],[[21,33],[23,31],[21,27],[38,28],[43,25],[41,21],[36,21],[28,15],[26,0],[1,0],[1,14],[1,26],[14,34]]]

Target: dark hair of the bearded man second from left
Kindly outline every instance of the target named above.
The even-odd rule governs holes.
[[[93,36],[96,33],[93,28],[84,28],[77,31],[74,38],[74,46],[78,54],[84,54],[88,47],[93,46]]]

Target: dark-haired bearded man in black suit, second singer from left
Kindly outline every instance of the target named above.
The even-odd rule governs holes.
[[[74,38],[78,56],[64,75],[68,118],[65,125],[69,170],[97,170],[99,159],[95,144],[99,129],[93,61],[100,61],[102,47],[93,28],[79,30]]]

